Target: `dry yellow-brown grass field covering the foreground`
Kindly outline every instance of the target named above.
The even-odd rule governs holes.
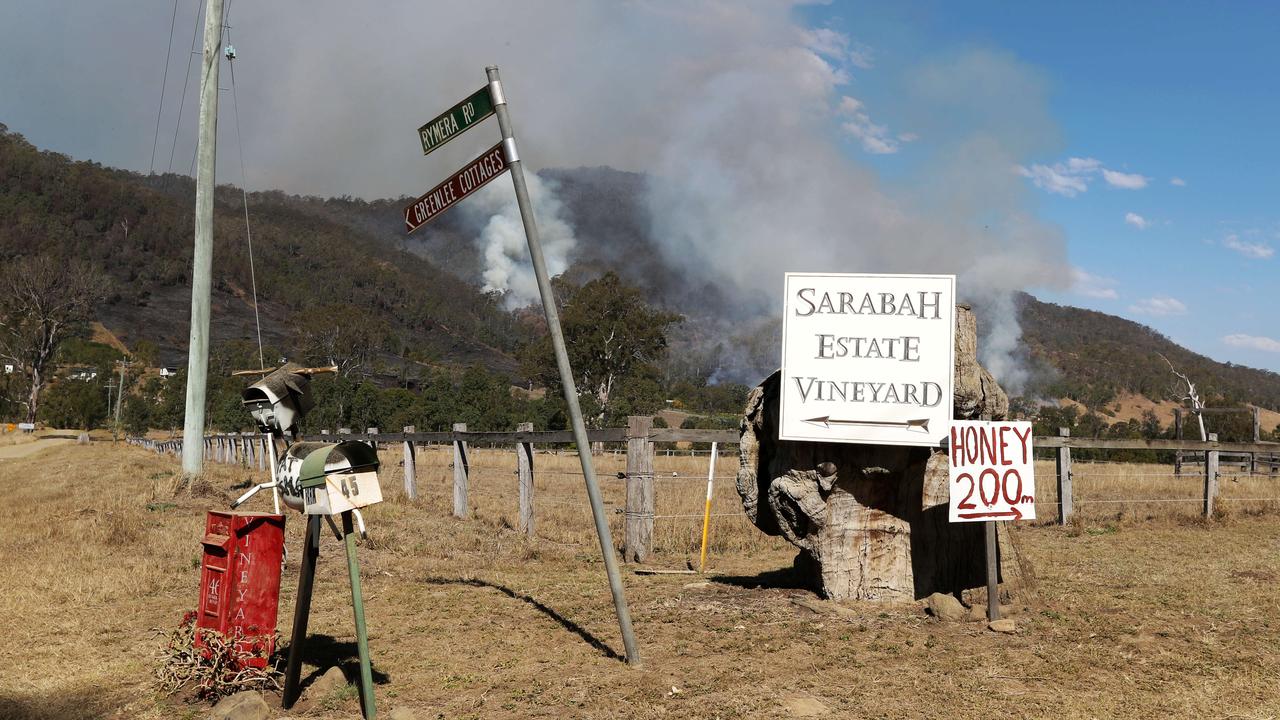
[[[916,605],[827,603],[795,587],[790,546],[741,519],[735,461],[717,470],[710,571],[625,568],[644,667],[617,659],[576,457],[539,452],[538,539],[516,524],[515,456],[474,450],[472,516],[451,516],[444,448],[419,454],[421,498],[370,509],[361,570],[379,710],[417,717],[1235,717],[1280,716],[1280,477],[1224,478],[1219,518],[1197,516],[1201,480],[1162,466],[1076,464],[1082,521],[1019,527],[1038,592],[1018,632],[936,623]],[[622,455],[598,457],[621,537]],[[655,461],[653,565],[696,552],[707,456]],[[96,442],[0,460],[0,717],[202,717],[151,680],[160,638],[195,607],[204,510],[256,470],[212,466],[173,493],[174,457]],[[1123,502],[1115,502],[1115,501]],[[1091,502],[1093,501],[1093,502]],[[251,501],[262,510],[268,498]],[[289,515],[287,542],[303,524]],[[321,539],[311,679],[355,664],[340,546]],[[297,562],[284,571],[288,634]],[[352,693],[276,716],[355,717]]]

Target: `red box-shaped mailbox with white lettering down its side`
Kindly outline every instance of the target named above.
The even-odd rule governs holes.
[[[204,546],[196,628],[242,637],[239,647],[262,667],[275,651],[284,516],[210,510]]]

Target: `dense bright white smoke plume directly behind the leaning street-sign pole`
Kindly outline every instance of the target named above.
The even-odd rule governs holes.
[[[525,179],[529,183],[547,272],[558,275],[568,269],[577,238],[573,237],[573,228],[564,222],[563,206],[556,196],[556,183],[534,173],[525,173]],[[507,178],[494,181],[461,208],[466,208],[474,224],[483,223],[476,246],[484,256],[484,291],[502,293],[508,309],[536,302],[538,281],[529,259],[520,208]]]

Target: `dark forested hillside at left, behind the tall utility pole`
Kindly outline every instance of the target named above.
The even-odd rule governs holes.
[[[125,345],[155,342],[160,360],[170,365],[186,357],[193,196],[189,178],[74,161],[40,151],[0,124],[0,259],[38,250],[87,260],[110,284],[97,319]],[[215,343],[253,336],[241,202],[237,188],[218,188]],[[315,210],[324,204],[280,192],[250,196],[268,345],[296,351],[300,334],[323,334],[326,325],[344,322],[376,341],[388,360],[515,368],[509,354],[522,329],[493,297],[375,233]]]

